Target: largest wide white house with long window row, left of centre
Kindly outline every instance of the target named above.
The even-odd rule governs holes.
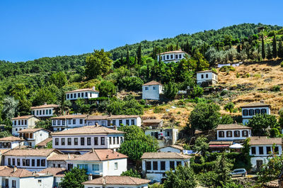
[[[95,149],[117,149],[124,140],[124,132],[103,126],[84,126],[52,133],[53,148],[64,153],[86,153]]]

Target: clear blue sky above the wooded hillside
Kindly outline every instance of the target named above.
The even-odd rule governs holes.
[[[283,26],[283,1],[1,0],[0,60],[79,55],[238,23]]]

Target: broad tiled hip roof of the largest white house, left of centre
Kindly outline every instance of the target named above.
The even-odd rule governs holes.
[[[51,133],[52,136],[57,135],[83,135],[83,134],[115,134],[124,133],[104,126],[83,126],[79,128],[71,128],[69,130],[59,131],[57,133]]]

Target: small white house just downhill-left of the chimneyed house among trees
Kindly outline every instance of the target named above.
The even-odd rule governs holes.
[[[33,106],[30,108],[31,114],[38,118],[49,118],[57,114],[59,105],[57,104],[43,104],[40,106]]]

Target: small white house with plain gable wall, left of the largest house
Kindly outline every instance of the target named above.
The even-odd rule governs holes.
[[[50,131],[44,128],[27,128],[18,131],[20,138],[25,139],[25,145],[35,148],[37,143],[41,143],[49,137]]]

